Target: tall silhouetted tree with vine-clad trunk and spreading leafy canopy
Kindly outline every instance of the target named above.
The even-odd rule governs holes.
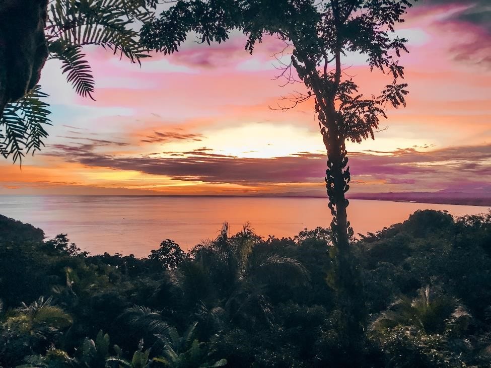
[[[359,282],[349,250],[353,229],[347,220],[350,173],[347,166],[346,140],[361,142],[374,138],[387,105],[405,106],[407,84],[399,83],[404,68],[399,65],[401,52],[407,52],[406,39],[395,34],[396,23],[403,22],[409,0],[177,0],[160,19],[142,29],[150,48],[164,54],[178,51],[190,32],[208,44],[228,39],[233,29],[248,39],[246,50],[253,52],[263,35],[285,41],[292,50],[291,61],[284,64],[282,76],[287,83],[299,82],[291,73],[294,68],[306,93],[286,98],[291,105],[315,99],[320,132],[327,150],[326,188],[333,215],[332,243],[336,247],[338,287],[346,298],[345,309],[354,320],[348,330],[360,331],[361,304]],[[343,73],[342,58],[347,53],[367,58],[370,69],[388,73],[392,83],[378,96],[364,97],[353,78]],[[358,304],[358,306],[357,306]]]

